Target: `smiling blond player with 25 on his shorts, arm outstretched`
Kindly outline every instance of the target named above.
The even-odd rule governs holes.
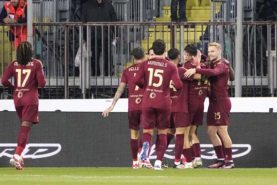
[[[231,110],[231,101],[228,96],[229,86],[229,67],[221,58],[221,46],[219,43],[208,44],[208,55],[213,61],[211,69],[189,69],[185,76],[200,73],[212,76],[211,78],[211,97],[207,112],[207,134],[214,146],[217,155],[217,162],[208,168],[234,168],[232,158],[232,141],[228,135],[228,120]],[[226,152],[226,162],[223,155],[222,143],[217,133],[223,140]]]

